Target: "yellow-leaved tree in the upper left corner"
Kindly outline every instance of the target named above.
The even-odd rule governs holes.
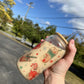
[[[14,0],[3,0],[0,1],[0,19],[1,24],[6,24],[8,21],[12,21],[12,10],[11,8],[15,5]],[[10,16],[11,15],[11,16]]]

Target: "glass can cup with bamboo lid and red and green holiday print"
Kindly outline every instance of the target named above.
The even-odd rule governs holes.
[[[64,56],[67,44],[60,33],[48,36],[45,41],[20,57],[17,62],[19,71],[26,79],[34,79]]]

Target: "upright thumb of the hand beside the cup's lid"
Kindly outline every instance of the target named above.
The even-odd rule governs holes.
[[[67,53],[64,57],[65,61],[67,62],[68,65],[71,65],[73,60],[74,60],[74,57],[75,57],[75,54],[76,54],[76,47],[75,47],[75,43],[74,43],[74,40],[70,40],[69,42],[69,45],[68,45],[68,50],[67,50]]]

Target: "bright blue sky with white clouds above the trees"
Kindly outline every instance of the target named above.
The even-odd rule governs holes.
[[[76,30],[63,28],[74,27],[84,29],[84,18],[68,18],[68,17],[84,17],[84,0],[14,0],[16,5],[12,8],[14,16],[25,16],[30,2],[33,2],[26,18],[33,23],[38,23],[41,27],[48,25],[56,25],[57,32],[69,35]],[[56,17],[65,17],[56,18]],[[47,25],[44,25],[47,24]],[[59,26],[62,26],[61,28]],[[84,34],[84,30],[81,30]]]

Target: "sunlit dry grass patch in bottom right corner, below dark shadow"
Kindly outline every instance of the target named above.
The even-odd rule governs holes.
[[[73,74],[70,71],[67,72],[65,80],[69,84],[84,84],[84,80],[80,79],[79,77],[77,77],[75,74]]]

